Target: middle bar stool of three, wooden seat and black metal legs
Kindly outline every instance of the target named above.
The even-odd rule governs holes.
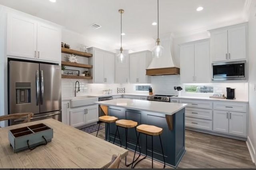
[[[120,135],[119,135],[118,127],[125,128],[125,140],[126,140],[125,149],[127,149],[128,128],[134,128],[135,133],[136,133],[136,137],[137,137],[137,141],[138,141],[138,134],[137,134],[137,130],[136,130],[136,126],[137,125],[138,125],[138,122],[134,122],[132,120],[121,119],[121,120],[117,120],[116,121],[116,133],[118,132],[118,137],[119,137],[119,140],[120,140],[120,147],[122,146],[122,142],[121,142],[121,138],[120,138]],[[115,134],[115,138],[114,138],[113,144],[115,143],[115,140],[116,140],[116,134]],[[138,146],[139,146],[139,150],[140,150],[140,144],[138,144]],[[140,154],[139,154],[138,158],[139,157],[140,157]],[[136,160],[138,158],[136,158]],[[126,157],[125,157],[125,165],[126,166],[130,166],[132,163],[127,164],[126,163]]]

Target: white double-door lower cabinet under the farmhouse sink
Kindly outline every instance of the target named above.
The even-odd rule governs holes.
[[[70,126],[78,127],[98,122],[98,105],[70,109]]]

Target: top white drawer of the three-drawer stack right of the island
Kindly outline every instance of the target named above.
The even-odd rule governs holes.
[[[188,104],[187,107],[212,109],[212,102],[203,100],[180,100],[180,103]]]

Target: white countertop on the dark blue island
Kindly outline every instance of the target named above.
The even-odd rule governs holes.
[[[168,114],[168,115],[175,114],[176,112],[178,112],[179,110],[187,106],[187,104],[180,104],[180,103],[156,102],[156,101],[136,100],[136,99],[126,99],[126,98],[106,100],[106,101],[94,102],[94,103],[107,105],[107,106],[115,106],[120,108],[127,108],[132,110],[162,113],[162,114]]]

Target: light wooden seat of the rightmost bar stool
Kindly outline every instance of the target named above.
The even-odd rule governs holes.
[[[153,125],[141,124],[137,126],[137,131],[151,136],[157,136],[162,134],[163,129]]]

